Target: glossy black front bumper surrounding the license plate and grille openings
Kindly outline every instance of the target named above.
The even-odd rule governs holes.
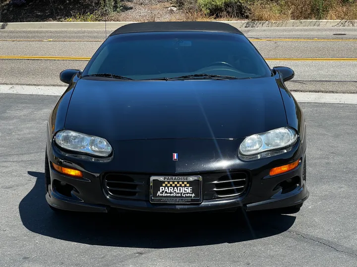
[[[54,146],[48,151],[49,160],[59,165],[66,165],[80,168],[80,165],[63,159],[63,155]],[[280,165],[301,159],[300,164],[294,170],[282,175],[270,177],[269,170]],[[143,193],[141,198],[128,199],[116,198],[108,194],[103,186],[103,175],[84,171],[83,178],[72,178],[62,175],[50,168],[51,186],[49,186],[46,195],[47,202],[58,209],[83,212],[101,212],[106,213],[111,209],[124,209],[135,211],[152,211],[152,212],[197,212],[197,211],[214,211],[243,207],[246,211],[265,210],[295,206],[303,203],[309,196],[306,188],[306,180],[303,177],[303,164],[305,161],[304,147],[297,143],[296,147],[283,157],[268,159],[266,161],[256,161],[255,168],[246,169],[249,171],[249,186],[243,194],[238,197],[215,198],[204,196],[200,204],[153,204],[149,201],[149,177],[143,182]],[[268,163],[267,163],[268,162]],[[241,166],[241,165],[240,165]],[[233,169],[234,170],[234,169]],[[233,172],[229,170],[229,172]],[[241,168],[239,169],[241,170]],[[222,172],[221,172],[222,173]],[[195,173],[197,174],[197,173]],[[159,174],[155,174],[159,175]],[[168,175],[168,174],[163,174]],[[179,176],[180,174],[171,174]],[[185,174],[192,175],[192,174]],[[289,188],[282,188],[281,183],[292,179],[296,181]],[[56,184],[59,182],[67,183],[75,189],[70,194],[59,192]],[[204,183],[203,177],[203,183]],[[205,192],[205,190],[204,190]]]

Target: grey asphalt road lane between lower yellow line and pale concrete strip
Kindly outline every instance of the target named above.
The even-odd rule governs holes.
[[[0,59],[0,64],[0,84],[64,86],[60,72],[83,70],[87,61]],[[268,64],[295,70],[296,78],[287,83],[292,91],[357,93],[357,62],[268,61]]]

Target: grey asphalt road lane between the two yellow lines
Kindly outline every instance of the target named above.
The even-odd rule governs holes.
[[[0,32],[1,33],[1,32]],[[250,39],[265,58],[357,57],[357,39],[339,41]],[[267,41],[266,41],[267,40]],[[284,40],[284,39],[283,39]],[[332,39],[336,40],[336,39]],[[0,41],[0,55],[91,57],[103,41]]]

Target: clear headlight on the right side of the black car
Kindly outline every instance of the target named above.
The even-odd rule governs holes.
[[[283,150],[297,140],[294,129],[283,127],[262,134],[253,134],[244,139],[239,146],[239,154],[253,156],[270,150]]]

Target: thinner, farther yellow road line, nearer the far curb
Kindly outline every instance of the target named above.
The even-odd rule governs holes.
[[[255,39],[250,38],[251,42],[357,42],[357,39],[318,39],[318,38],[311,38],[311,39]],[[0,42],[103,42],[103,40],[16,40],[16,39],[2,39]]]

